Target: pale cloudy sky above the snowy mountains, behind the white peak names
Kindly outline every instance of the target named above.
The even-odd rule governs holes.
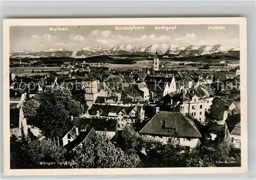
[[[132,25],[133,26],[133,25]],[[157,25],[175,26],[175,25]],[[148,47],[155,43],[170,43],[186,47],[224,44],[239,47],[239,25],[224,26],[225,30],[209,30],[215,25],[176,25],[176,30],[156,30],[144,26],[144,30],[116,30],[116,26],[60,26],[68,31],[50,31],[56,26],[10,27],[10,51],[44,51],[49,48],[75,50],[82,47],[113,48],[127,43]]]

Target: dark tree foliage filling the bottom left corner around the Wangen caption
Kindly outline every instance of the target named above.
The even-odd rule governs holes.
[[[10,141],[11,169],[63,168],[57,162],[65,161],[65,150],[49,139],[26,140],[27,143],[24,143],[12,137]],[[42,162],[53,165],[44,165]]]

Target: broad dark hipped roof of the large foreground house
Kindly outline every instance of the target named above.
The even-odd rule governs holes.
[[[173,129],[170,130],[169,128]],[[201,138],[195,123],[176,112],[159,111],[140,131],[155,136]]]

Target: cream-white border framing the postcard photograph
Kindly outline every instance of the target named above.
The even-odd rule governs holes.
[[[118,168],[118,169],[10,169],[9,124],[9,27],[10,26],[90,26],[90,25],[239,25],[241,84],[241,167],[201,168]],[[88,19],[4,19],[3,20],[3,145],[5,175],[92,175],[92,174],[188,174],[246,173],[247,146],[247,29],[245,17],[203,18],[88,18]]]

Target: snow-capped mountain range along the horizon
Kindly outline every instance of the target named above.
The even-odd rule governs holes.
[[[52,49],[49,48],[45,51],[15,51],[10,52],[10,58],[40,58],[40,57],[72,57],[72,58],[85,58],[98,55],[147,55],[151,56],[156,52],[159,55],[176,55],[184,56],[199,56],[210,55],[215,53],[226,53],[231,51],[240,51],[239,47],[224,46],[223,44],[216,44],[214,46],[188,46],[180,47],[169,43],[152,44],[149,47],[134,46],[133,44],[126,44],[120,46],[117,44],[112,49],[105,49],[103,47],[83,47],[77,50]]]

